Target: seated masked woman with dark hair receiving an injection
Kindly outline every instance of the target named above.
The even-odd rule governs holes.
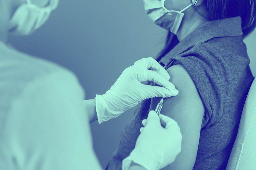
[[[174,15],[163,10],[163,16],[157,16],[160,3],[144,1],[149,17],[169,30],[158,61],[179,90],[178,96],[165,99],[161,113],[178,122],[182,151],[164,169],[224,170],[254,78],[243,39],[255,28],[256,0],[192,0],[178,28],[177,22],[172,24]],[[180,11],[190,3],[166,0],[165,7]],[[140,104],[123,129],[107,169],[121,169],[122,160],[135,146],[141,121],[158,102],[151,99]]]

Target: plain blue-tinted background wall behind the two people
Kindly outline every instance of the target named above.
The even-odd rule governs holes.
[[[143,1],[63,1],[47,23],[29,37],[11,37],[17,49],[72,70],[87,99],[103,94],[136,60],[155,56],[166,32],[146,16]],[[248,37],[256,75],[256,33]],[[116,149],[128,111],[102,125],[91,125],[94,148],[103,167]]]

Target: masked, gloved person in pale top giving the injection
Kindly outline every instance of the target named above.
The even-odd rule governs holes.
[[[0,0],[0,169],[101,169],[89,122],[101,124],[145,99],[171,97],[178,91],[158,62],[143,58],[126,68],[104,95],[83,100],[73,73],[4,43],[8,33],[33,33],[58,4],[33,2],[38,5],[31,0]],[[180,152],[182,136],[174,120],[151,111],[143,125],[123,169],[161,169]]]

